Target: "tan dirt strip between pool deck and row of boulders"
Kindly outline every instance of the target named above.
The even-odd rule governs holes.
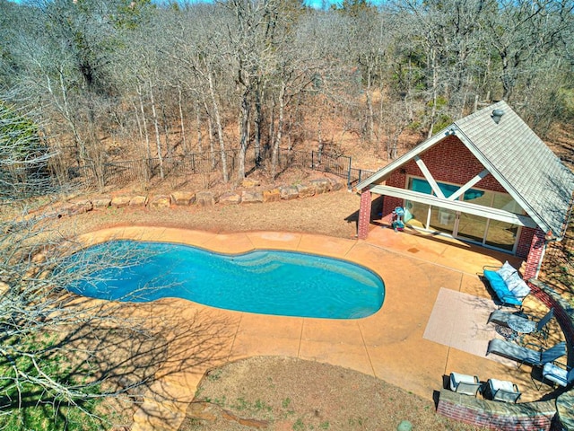
[[[354,238],[360,197],[346,189],[311,198],[265,204],[201,208],[111,208],[61,220],[65,231],[89,232],[112,225],[162,225],[213,233],[282,231]]]

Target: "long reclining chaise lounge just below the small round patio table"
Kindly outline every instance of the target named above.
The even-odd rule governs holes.
[[[539,349],[533,350],[532,348],[518,346],[516,343],[503,339],[491,339],[488,343],[486,355],[494,353],[515,360],[521,365],[534,366],[542,366],[558,359],[560,356],[566,355],[566,343],[564,341],[548,349],[540,349],[539,346],[532,343],[528,343],[526,346],[535,346]]]

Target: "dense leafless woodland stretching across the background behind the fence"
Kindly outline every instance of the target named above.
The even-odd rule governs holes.
[[[500,99],[544,137],[572,112],[573,7],[0,0],[2,119],[37,143],[3,144],[3,176],[28,182],[30,159],[48,158],[63,185],[154,158],[163,178],[163,158],[211,152],[223,181],[240,180],[248,148],[275,175],[281,146],[336,151],[335,130],[394,158],[405,132]]]

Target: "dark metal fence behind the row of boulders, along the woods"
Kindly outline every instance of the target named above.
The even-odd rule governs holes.
[[[245,171],[250,172],[260,168],[262,155],[265,154],[257,155],[255,149],[249,149],[245,157]],[[224,153],[224,157],[228,175],[231,177],[238,168],[239,152],[229,150]],[[148,184],[150,181],[165,180],[170,177],[221,173],[222,163],[221,152],[204,152],[164,157],[161,160],[151,158],[102,163],[100,166],[73,167],[68,169],[68,178],[85,188],[101,188],[112,184],[125,186],[132,182]],[[299,167],[332,173],[344,178],[349,188],[373,173],[353,169],[352,159],[346,155],[294,151],[287,148],[280,149],[277,167],[280,172],[291,167]]]

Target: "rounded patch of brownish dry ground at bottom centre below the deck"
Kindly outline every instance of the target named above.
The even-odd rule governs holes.
[[[431,400],[367,374],[259,356],[209,372],[179,431],[392,431],[403,421],[413,430],[483,429],[441,417]]]

